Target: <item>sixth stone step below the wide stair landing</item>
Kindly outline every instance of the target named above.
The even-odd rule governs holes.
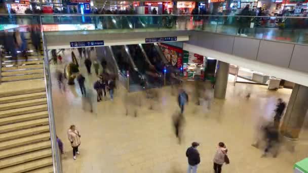
[[[13,140],[17,138],[27,137],[30,135],[36,135],[49,132],[49,125],[35,126],[26,129],[20,129],[19,131],[8,132],[0,135],[0,142]]]

